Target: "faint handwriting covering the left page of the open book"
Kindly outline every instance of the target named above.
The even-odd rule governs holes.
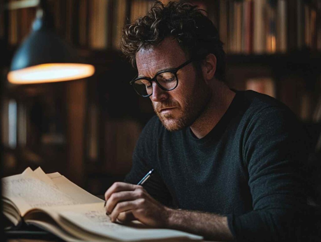
[[[68,194],[62,193],[55,186],[34,179],[18,178],[2,183],[3,193],[21,197],[31,207],[50,207],[79,204]]]

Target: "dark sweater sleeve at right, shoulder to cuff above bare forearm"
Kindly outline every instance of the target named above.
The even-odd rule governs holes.
[[[301,165],[305,134],[291,111],[268,107],[244,132],[243,162],[253,210],[228,215],[236,241],[307,241],[308,206]]]

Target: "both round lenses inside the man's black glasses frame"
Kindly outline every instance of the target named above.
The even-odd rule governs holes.
[[[172,90],[177,85],[177,78],[174,73],[163,72],[156,76],[156,81],[165,90]],[[139,79],[134,82],[135,90],[143,96],[152,94],[153,87],[152,83],[146,79]]]

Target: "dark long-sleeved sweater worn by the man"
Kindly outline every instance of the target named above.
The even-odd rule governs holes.
[[[233,91],[229,108],[201,139],[189,127],[169,132],[152,117],[125,181],[135,184],[153,168],[144,184],[149,194],[170,207],[227,216],[237,241],[307,239],[302,126],[278,100]]]

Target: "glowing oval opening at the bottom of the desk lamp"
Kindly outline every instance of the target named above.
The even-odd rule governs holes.
[[[8,73],[8,81],[15,84],[62,82],[93,75],[95,67],[88,64],[50,63],[35,65]]]

